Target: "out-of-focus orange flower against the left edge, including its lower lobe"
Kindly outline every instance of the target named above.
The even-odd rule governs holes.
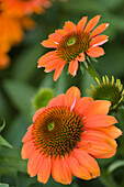
[[[10,57],[8,52],[13,45],[22,42],[24,30],[31,30],[35,25],[31,18],[10,18],[4,12],[0,14],[0,69],[8,68]]]

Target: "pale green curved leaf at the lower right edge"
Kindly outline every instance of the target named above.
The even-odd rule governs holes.
[[[119,168],[119,167],[124,167],[124,161],[116,161],[116,162],[114,162],[113,164],[111,164],[110,166],[109,166],[109,168],[108,168],[108,172],[109,173],[112,173],[112,172],[114,172],[116,168]]]

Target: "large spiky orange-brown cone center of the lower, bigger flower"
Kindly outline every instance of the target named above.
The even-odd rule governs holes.
[[[33,142],[43,154],[69,154],[80,141],[82,119],[66,107],[52,107],[43,111],[33,124]]]

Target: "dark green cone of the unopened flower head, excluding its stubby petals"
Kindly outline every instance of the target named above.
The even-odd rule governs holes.
[[[92,91],[92,98],[94,100],[109,100],[111,101],[111,109],[115,109],[123,99],[122,90],[116,87],[115,84],[101,85],[95,87],[95,90]]]

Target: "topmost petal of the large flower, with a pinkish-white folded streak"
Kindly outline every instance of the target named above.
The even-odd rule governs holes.
[[[77,87],[71,87],[66,92],[66,106],[74,109],[76,101],[80,98],[80,90]]]

